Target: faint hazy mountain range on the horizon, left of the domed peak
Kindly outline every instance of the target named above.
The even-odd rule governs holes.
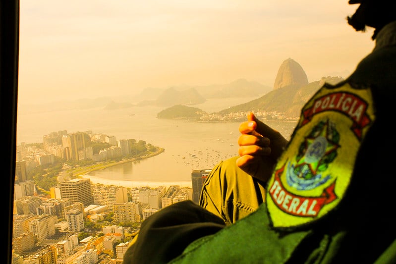
[[[132,106],[193,106],[216,98],[259,97],[272,88],[258,82],[238,79],[227,84],[207,86],[174,86],[170,88],[146,88],[138,95],[115,95],[101,98],[82,98],[75,101],[48,102],[44,104],[19,105],[19,112],[46,112],[68,109],[89,109],[104,107],[107,110],[123,109]],[[120,103],[123,102],[123,103]],[[138,103],[136,103],[138,102]]]

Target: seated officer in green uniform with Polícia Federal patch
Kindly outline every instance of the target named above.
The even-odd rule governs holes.
[[[396,262],[396,3],[349,3],[356,31],[375,28],[372,53],[306,103],[289,142],[250,113],[200,206],[148,217],[125,264]]]

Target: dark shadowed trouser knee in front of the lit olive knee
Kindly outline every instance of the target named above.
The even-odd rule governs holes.
[[[192,201],[172,204],[142,222],[123,263],[167,263],[194,240],[214,234],[225,226],[223,219]]]

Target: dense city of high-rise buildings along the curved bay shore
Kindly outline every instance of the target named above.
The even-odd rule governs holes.
[[[121,264],[141,221],[175,202],[197,202],[202,175],[209,172],[192,172],[195,190],[93,184],[84,174],[163,151],[142,140],[91,131],[53,132],[43,136],[43,143],[17,146],[14,263]]]

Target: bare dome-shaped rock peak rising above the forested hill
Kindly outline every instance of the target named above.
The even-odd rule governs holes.
[[[295,60],[288,58],[284,60],[279,67],[277,77],[275,78],[274,90],[288,85],[308,85],[308,78],[301,65]]]

